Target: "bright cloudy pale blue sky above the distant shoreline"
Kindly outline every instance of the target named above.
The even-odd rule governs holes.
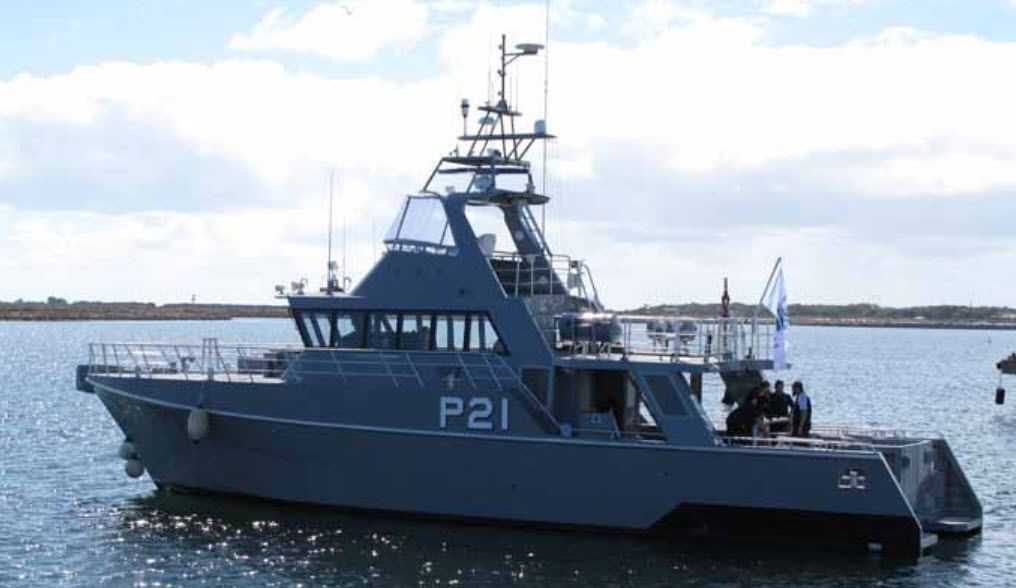
[[[317,285],[331,171],[356,281],[490,96],[497,38],[544,43],[546,8],[0,0],[0,300]],[[778,257],[791,303],[1016,306],[1016,0],[552,0],[549,22],[511,99],[544,118],[546,65],[548,241],[609,307],[723,277],[752,302]]]

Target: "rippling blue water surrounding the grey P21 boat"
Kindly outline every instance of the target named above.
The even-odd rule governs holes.
[[[993,403],[1016,332],[796,327],[817,422],[948,436],[985,532],[919,562],[415,523],[213,498],[156,497],[116,455],[99,400],[74,390],[85,343],[293,342],[288,322],[0,322],[0,584],[4,585],[1011,585],[1016,398]],[[1016,388],[1016,385],[1012,386]],[[719,395],[708,411],[720,418]],[[747,488],[746,488],[747,492]]]

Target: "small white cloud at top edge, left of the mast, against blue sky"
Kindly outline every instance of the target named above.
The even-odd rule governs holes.
[[[249,34],[235,35],[230,49],[293,51],[335,61],[368,61],[384,49],[415,46],[427,34],[428,16],[428,6],[417,0],[347,0],[321,4],[299,17],[275,8]]]

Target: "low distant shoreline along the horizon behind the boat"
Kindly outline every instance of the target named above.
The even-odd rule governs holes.
[[[829,307],[833,308],[833,307]],[[929,307],[930,308],[930,307]],[[849,313],[850,306],[836,307],[837,312]],[[716,316],[707,305],[694,308],[666,307],[639,309],[639,314],[660,316]],[[718,311],[718,308],[715,309]],[[744,309],[738,316],[750,316]],[[809,316],[793,314],[791,326],[892,328],[892,329],[954,329],[954,330],[1016,330],[1016,319],[1011,320],[930,320],[923,318],[883,318],[850,316]],[[976,309],[973,309],[976,310]],[[1008,310],[1008,309],[1007,309]],[[648,312],[647,312],[648,311]],[[706,312],[703,312],[706,311]],[[892,309],[890,309],[892,311]],[[631,313],[633,311],[626,311]],[[81,321],[226,321],[232,319],[284,319],[290,317],[289,307],[273,305],[218,305],[218,304],[169,304],[151,303],[2,303],[0,321],[5,322],[81,322]],[[1006,316],[1006,319],[1010,319]]]

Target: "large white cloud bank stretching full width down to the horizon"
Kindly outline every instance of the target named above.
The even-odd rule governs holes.
[[[562,25],[581,29],[594,16],[564,8],[552,15]],[[590,256],[608,303],[652,302],[645,284],[660,275],[682,283],[649,286],[659,301],[711,300],[720,272],[749,290],[778,255],[791,259],[798,300],[965,303],[959,284],[1014,261],[998,241],[1008,227],[971,233],[992,220],[972,217],[982,202],[1003,202],[987,198],[1016,190],[1016,81],[1002,74],[1016,44],[894,28],[840,46],[772,47],[758,18],[641,10],[629,15],[627,44],[551,48],[549,126],[561,137],[551,151],[551,243]],[[238,59],[111,62],[0,82],[0,272],[10,276],[0,299],[182,300],[202,287],[199,299],[261,300],[295,274],[313,283],[332,166],[339,208],[355,219],[353,273],[363,275],[371,224],[380,235],[399,195],[453,146],[458,99],[485,97],[494,34],[538,42],[543,11],[479,5],[441,32],[440,72],[423,79]],[[542,116],[543,63],[518,65],[528,125]],[[155,162],[135,165],[131,153]],[[40,210],[53,199],[44,179],[83,186],[88,173],[92,210],[72,211],[86,204],[69,200],[63,212]],[[121,186],[118,176],[136,181]],[[219,189],[233,181],[234,191]],[[160,187],[187,191],[190,211]],[[211,192],[215,206],[201,200]],[[134,211],[117,211],[121,202]],[[929,235],[948,236],[966,263]],[[954,272],[950,284],[920,277],[938,279],[936,263]],[[150,281],[118,296],[117,273],[151,267]],[[164,277],[173,275],[199,285]],[[238,286],[238,275],[249,283]],[[33,280],[38,293],[15,291]]]

